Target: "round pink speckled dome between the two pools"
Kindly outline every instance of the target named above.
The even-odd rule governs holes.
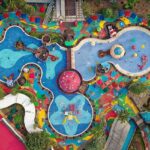
[[[65,93],[74,93],[78,91],[82,82],[81,75],[76,70],[65,70],[58,78],[58,85]]]

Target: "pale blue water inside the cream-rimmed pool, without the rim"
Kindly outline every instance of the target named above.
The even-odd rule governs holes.
[[[129,27],[130,28],[130,27]],[[109,41],[109,40],[108,40]],[[81,73],[84,80],[90,80],[95,76],[95,68],[97,63],[111,62],[114,65],[119,65],[123,70],[130,73],[138,73],[146,70],[150,66],[150,35],[140,30],[131,30],[123,33],[120,37],[112,42],[96,43],[92,46],[90,42],[83,44],[77,51],[75,51],[75,68]],[[121,59],[117,60],[111,56],[99,58],[97,53],[99,50],[109,50],[113,45],[120,44],[125,50],[126,54]],[[132,46],[135,46],[135,50]],[[133,57],[137,53],[137,57]],[[148,62],[143,70],[139,70],[138,65],[141,65],[141,57],[146,55]]]

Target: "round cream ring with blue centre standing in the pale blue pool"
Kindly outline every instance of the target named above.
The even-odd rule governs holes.
[[[120,59],[125,55],[125,49],[123,46],[116,44],[110,49],[110,55],[115,59]]]

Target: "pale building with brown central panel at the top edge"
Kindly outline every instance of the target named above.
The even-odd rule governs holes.
[[[82,0],[26,0],[26,2],[48,4],[43,24],[47,24],[50,19],[65,22],[84,20]]]

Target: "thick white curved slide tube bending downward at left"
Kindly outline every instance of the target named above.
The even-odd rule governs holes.
[[[34,104],[30,102],[28,96],[20,93],[16,95],[9,94],[0,100],[0,109],[7,108],[13,104],[20,104],[23,106],[25,110],[24,124],[29,133],[42,131],[40,128],[34,128],[36,111]]]

